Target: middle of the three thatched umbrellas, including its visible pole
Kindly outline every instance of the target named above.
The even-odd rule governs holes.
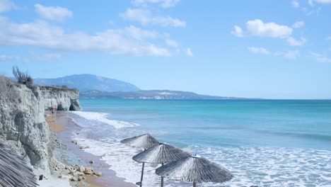
[[[162,164],[163,166],[163,164],[174,162],[185,157],[190,157],[190,155],[191,154],[182,151],[182,149],[165,143],[160,143],[135,155],[132,159],[136,162]],[[161,176],[161,187],[163,187],[163,176]]]

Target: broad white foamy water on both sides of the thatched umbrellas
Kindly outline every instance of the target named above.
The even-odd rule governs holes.
[[[117,176],[127,182],[140,179],[141,164],[132,157],[139,149],[122,145],[117,140],[86,139],[83,133],[74,137],[86,152],[105,160]],[[228,168],[234,179],[223,184],[204,183],[201,186],[331,186],[331,152],[313,149],[286,149],[276,147],[185,147],[213,162]],[[144,186],[159,186],[157,166],[145,164]],[[192,186],[165,179],[166,186]]]

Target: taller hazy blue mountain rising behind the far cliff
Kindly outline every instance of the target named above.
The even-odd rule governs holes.
[[[79,89],[79,91],[139,91],[140,89],[134,84],[116,79],[95,76],[93,74],[74,74],[66,77],[54,79],[34,79],[34,84],[40,86],[62,86]]]

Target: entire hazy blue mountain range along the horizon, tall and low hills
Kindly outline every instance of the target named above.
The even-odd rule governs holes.
[[[78,89],[80,98],[106,99],[240,99],[199,95],[190,91],[141,90],[134,84],[93,74],[74,74],[54,79],[34,79],[40,86]]]

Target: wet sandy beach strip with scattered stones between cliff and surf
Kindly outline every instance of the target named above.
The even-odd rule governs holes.
[[[72,139],[72,136],[79,133],[82,128],[68,117],[68,113],[57,112],[54,113],[54,116],[52,116],[52,114],[47,115],[46,119],[47,123],[50,125],[50,131],[54,134],[59,144],[63,145],[63,147],[59,148],[59,152],[62,153],[62,156],[57,158],[59,162],[77,167],[81,165],[84,167],[92,167],[95,171],[102,173],[100,177],[86,175],[86,180],[83,180],[83,183],[71,182],[71,186],[136,186],[133,183],[124,181],[124,178],[116,176],[115,171],[111,170],[110,165],[106,164],[100,157],[85,152],[83,149],[88,149],[88,147],[80,147],[79,144]],[[91,161],[93,164],[90,163]]]

